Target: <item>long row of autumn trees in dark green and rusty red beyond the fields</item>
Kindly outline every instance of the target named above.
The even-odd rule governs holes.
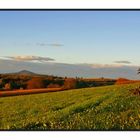
[[[67,77],[54,77],[54,76],[32,76],[15,78],[14,76],[1,78],[1,90],[14,90],[14,89],[37,89],[37,88],[63,88],[75,89],[85,87],[95,87],[114,84],[114,80],[109,79],[83,79],[83,78],[67,78]]]

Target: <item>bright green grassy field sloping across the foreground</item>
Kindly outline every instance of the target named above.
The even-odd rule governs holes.
[[[140,130],[139,84],[0,98],[0,129]]]

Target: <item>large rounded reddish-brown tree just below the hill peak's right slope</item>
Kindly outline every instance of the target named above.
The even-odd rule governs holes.
[[[34,77],[27,82],[27,89],[45,88],[44,78]]]

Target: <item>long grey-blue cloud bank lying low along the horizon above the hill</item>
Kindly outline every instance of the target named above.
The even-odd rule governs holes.
[[[124,77],[128,79],[137,79],[139,66],[102,66],[89,64],[66,64],[66,63],[32,63],[11,60],[1,60],[0,73],[12,73],[19,70],[31,70],[43,75],[56,75],[60,77],[83,77],[83,78],[112,78]],[[7,65],[10,64],[10,65]],[[11,67],[12,65],[12,67]]]

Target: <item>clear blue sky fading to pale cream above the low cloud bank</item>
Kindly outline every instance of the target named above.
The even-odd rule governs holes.
[[[0,11],[0,56],[139,65],[139,40],[140,11]]]

